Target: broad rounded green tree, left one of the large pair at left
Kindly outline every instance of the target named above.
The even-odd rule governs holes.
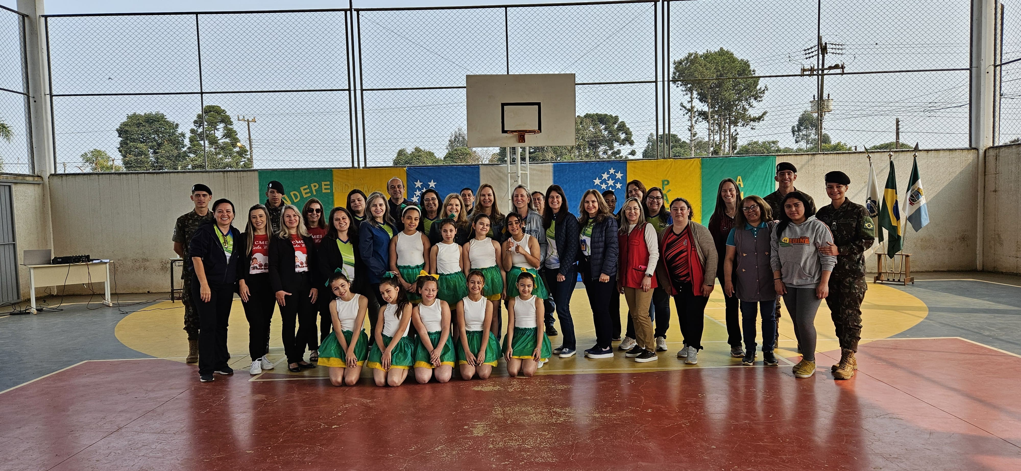
[[[117,152],[127,170],[188,169],[185,135],[158,111],[132,113],[116,128]]]

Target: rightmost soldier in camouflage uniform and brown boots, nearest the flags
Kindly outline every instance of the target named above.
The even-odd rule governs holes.
[[[816,218],[833,232],[833,242],[820,252],[836,256],[829,280],[826,305],[830,308],[836,337],[840,342],[840,362],[833,365],[833,377],[848,379],[858,369],[855,354],[862,336],[862,300],[865,282],[865,251],[875,242],[875,224],[864,206],[852,203],[844,194],[850,178],[842,171],[826,173],[826,194],[832,204],[819,209]]]

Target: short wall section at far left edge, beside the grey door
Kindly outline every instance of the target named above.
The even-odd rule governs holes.
[[[11,184],[14,204],[14,244],[17,246],[17,278],[21,299],[29,298],[29,269],[25,262],[27,250],[50,248],[50,206],[46,199],[46,188],[38,176],[0,176]],[[37,290],[43,294],[43,290]]]

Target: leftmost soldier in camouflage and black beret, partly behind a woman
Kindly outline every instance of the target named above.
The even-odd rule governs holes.
[[[212,191],[202,184],[192,187],[191,200],[195,203],[195,209],[178,218],[174,224],[174,252],[185,259],[184,270],[181,272],[181,279],[184,280],[184,291],[181,292],[181,303],[185,307],[185,331],[188,332],[188,363],[198,361],[198,313],[191,302],[191,279],[194,268],[191,257],[188,257],[188,245],[191,237],[198,226],[212,222],[212,212],[209,211],[209,200],[212,199]]]

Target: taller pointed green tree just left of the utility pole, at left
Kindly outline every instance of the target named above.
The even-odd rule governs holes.
[[[188,132],[188,156],[191,167],[209,170],[251,168],[248,149],[241,145],[231,115],[218,105],[205,105],[202,110],[202,113],[195,115],[195,120],[192,121],[194,127]],[[202,145],[203,136],[205,146]]]

